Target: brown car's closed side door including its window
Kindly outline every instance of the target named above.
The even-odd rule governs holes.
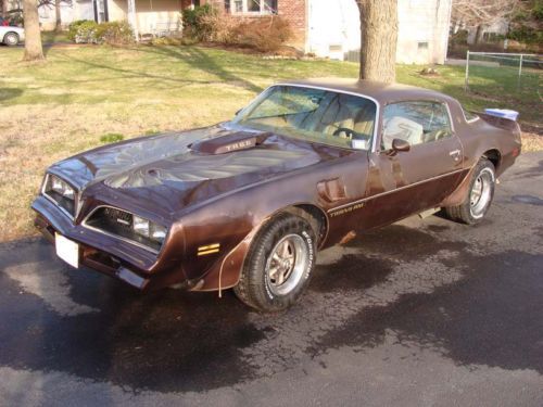
[[[444,102],[405,101],[384,106],[378,151],[370,155],[365,227],[433,208],[460,181],[463,148]],[[411,144],[392,150],[392,140]]]

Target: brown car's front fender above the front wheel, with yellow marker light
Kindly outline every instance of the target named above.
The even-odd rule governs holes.
[[[193,290],[212,291],[236,285],[257,230],[287,208],[310,206],[318,212],[325,224],[324,230],[316,231],[321,236],[320,247],[339,241],[337,234],[345,228],[351,230],[350,226],[330,222],[328,211],[364,194],[366,163],[366,157],[353,156],[333,166],[313,166],[311,170],[263,180],[204,202],[186,214],[179,213],[178,221],[186,238],[184,271],[190,280],[198,281]],[[327,180],[341,193],[336,193],[333,188],[328,191],[330,193],[324,193],[318,186]]]

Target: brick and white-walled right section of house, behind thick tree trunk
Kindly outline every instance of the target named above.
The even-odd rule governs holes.
[[[397,0],[400,63],[443,64],[453,0]],[[218,0],[232,15],[278,14],[295,33],[292,43],[317,56],[358,61],[361,18],[355,0]],[[224,5],[223,5],[224,4]]]

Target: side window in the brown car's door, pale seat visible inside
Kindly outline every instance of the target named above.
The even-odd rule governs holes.
[[[381,149],[391,149],[394,139],[416,145],[451,137],[452,133],[449,112],[443,103],[393,103],[384,107]]]

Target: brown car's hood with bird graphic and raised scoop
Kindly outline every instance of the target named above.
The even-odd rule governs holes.
[[[81,198],[105,189],[114,192],[117,206],[124,201],[138,202],[166,216],[349,153],[276,133],[217,125],[102,147],[49,170],[73,183]]]

